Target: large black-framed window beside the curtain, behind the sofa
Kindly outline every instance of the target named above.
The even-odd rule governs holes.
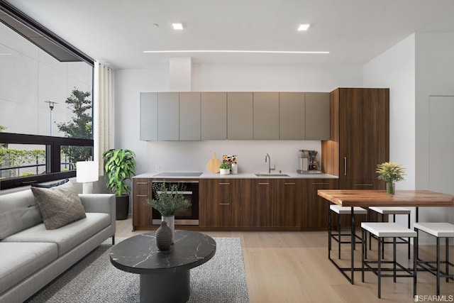
[[[74,177],[93,155],[93,60],[4,1],[0,13],[0,189]]]

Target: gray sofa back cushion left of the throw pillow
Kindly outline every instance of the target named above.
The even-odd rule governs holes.
[[[0,195],[0,240],[42,222],[30,189]]]

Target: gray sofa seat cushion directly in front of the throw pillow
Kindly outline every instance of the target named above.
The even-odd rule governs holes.
[[[58,246],[58,256],[64,255],[72,248],[99,233],[111,224],[111,215],[104,213],[87,213],[87,217],[74,221],[61,228],[48,230],[44,224],[14,233],[4,238],[4,242],[50,242]]]

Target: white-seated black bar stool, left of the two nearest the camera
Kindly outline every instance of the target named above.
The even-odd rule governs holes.
[[[382,277],[393,277],[396,282],[397,277],[413,277],[413,294],[416,295],[416,258],[414,258],[413,268],[405,268],[396,260],[396,238],[414,238],[414,242],[418,243],[416,231],[406,228],[394,222],[362,222],[362,245],[361,245],[361,278],[364,282],[365,267],[375,273],[378,277],[378,297],[382,297]],[[367,251],[367,235],[372,233],[377,237],[377,260],[366,260],[365,252]],[[392,261],[382,260],[382,238],[393,238],[392,245]],[[416,255],[416,246],[414,246],[414,255]],[[371,264],[377,264],[377,268],[372,268]],[[392,268],[382,268],[382,264],[392,264]],[[404,271],[406,274],[397,275],[397,267],[399,271]],[[392,271],[392,275],[383,275],[382,271]]]

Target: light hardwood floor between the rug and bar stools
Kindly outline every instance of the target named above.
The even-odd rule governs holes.
[[[116,237],[130,237],[143,232],[148,231],[132,232],[131,219],[117,221]],[[377,297],[377,276],[372,272],[366,272],[365,282],[361,282],[361,272],[356,272],[355,285],[351,285],[328,260],[326,231],[202,232],[211,237],[240,238],[250,303],[414,302],[413,279],[410,277],[397,278],[396,283],[392,282],[392,277],[382,278],[382,299]],[[372,249],[376,248],[374,244]],[[333,245],[337,243],[333,242]],[[343,246],[343,256],[347,258],[350,255],[349,246]],[[387,247],[389,253],[385,252],[387,257],[392,257],[390,248]],[[408,262],[405,249],[405,245],[399,245],[397,252],[398,260],[404,264]],[[450,260],[454,260],[453,250],[451,246]],[[425,246],[421,251],[422,256],[434,255],[432,246]],[[358,245],[355,250],[358,267],[360,252]],[[435,296],[436,277],[428,272],[418,272],[417,293]],[[442,280],[441,296],[446,302],[454,302],[453,281],[446,283]],[[434,302],[433,298],[420,297],[420,300]]]

